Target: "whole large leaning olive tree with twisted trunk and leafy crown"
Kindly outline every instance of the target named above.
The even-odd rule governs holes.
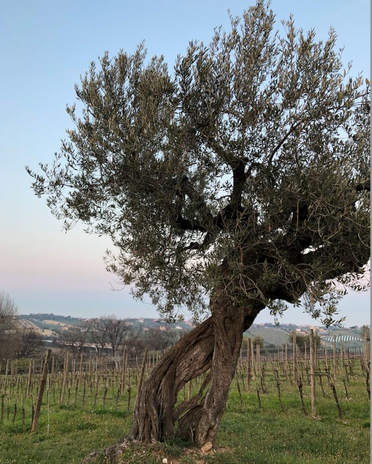
[[[129,438],[214,442],[243,332],[302,304],[325,324],[369,260],[369,81],[349,77],[336,34],[263,1],[209,45],[162,57],[106,53],[76,85],[74,128],[33,189],[69,229],[107,234],[108,269],[169,321],[203,320],[143,385]],[[300,300],[301,298],[301,300]],[[205,318],[205,316],[209,316]],[[200,391],[177,393],[207,373]]]

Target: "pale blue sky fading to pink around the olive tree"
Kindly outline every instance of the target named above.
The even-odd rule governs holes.
[[[37,167],[59,150],[71,127],[64,109],[74,102],[74,83],[105,50],[134,52],[145,40],[150,56],[163,54],[173,68],[191,39],[208,42],[214,26],[229,28],[227,10],[242,14],[252,1],[26,1],[1,4],[0,16],[0,290],[21,313],[54,312],[82,317],[156,317],[155,308],[111,291],[105,271],[110,241],[77,226],[67,234],[45,202],[30,190],[25,165]],[[314,27],[325,39],[329,26],[345,47],[353,73],[370,77],[370,2],[273,0],[280,19],[293,12],[298,27]],[[340,306],[347,324],[369,323],[369,294],[349,295]],[[257,322],[272,322],[263,312]],[[283,322],[307,323],[301,309]]]

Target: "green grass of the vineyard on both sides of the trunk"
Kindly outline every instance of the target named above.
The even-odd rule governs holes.
[[[344,385],[336,384],[342,410],[342,419],[334,402],[332,390],[323,382],[325,398],[317,385],[317,415],[305,416],[297,387],[289,381],[281,384],[281,410],[276,383],[269,375],[265,380],[267,393],[260,393],[259,407],[255,384],[250,392],[242,392],[242,406],[234,380],[227,410],[217,437],[216,453],[202,456],[189,443],[177,440],[157,446],[131,444],[121,463],[155,464],[167,458],[169,464],[363,464],[370,462],[370,401],[362,377],[350,378],[349,399],[345,398]],[[241,385],[243,390],[243,386]],[[102,408],[102,392],[94,407],[94,390],[86,392],[84,408],[81,398],[73,406],[59,405],[47,392],[37,432],[30,433],[30,400],[25,400],[25,424],[22,425],[20,405],[12,423],[12,397],[5,402],[4,420],[0,424],[0,463],[48,463],[73,464],[94,450],[103,450],[125,435],[131,424],[131,412],[127,412],[127,392],[115,407],[114,389],[109,390],[105,409]],[[196,386],[195,386],[196,393]],[[79,395],[81,393],[79,392]],[[15,394],[14,394],[15,395]],[[304,382],[305,405],[310,412],[310,386]],[[131,392],[131,406],[135,390]],[[131,410],[131,407],[130,407]],[[49,424],[49,431],[48,431]],[[104,463],[104,458],[98,462]]]

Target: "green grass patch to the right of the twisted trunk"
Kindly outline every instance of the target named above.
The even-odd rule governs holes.
[[[272,393],[261,395],[261,410],[251,396],[246,398],[245,406],[240,410],[237,393],[231,392],[228,413],[221,424],[218,438],[219,443],[228,446],[232,452],[229,460],[224,455],[213,462],[370,462],[368,402],[359,395],[358,401],[342,402],[345,418],[339,420],[331,399],[318,399],[317,413],[320,417],[317,419],[305,417],[298,400],[294,393],[289,397],[283,394],[286,412],[282,413],[272,390]],[[310,411],[309,400],[306,406]]]

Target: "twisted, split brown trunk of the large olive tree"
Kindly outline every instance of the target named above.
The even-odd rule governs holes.
[[[129,440],[156,443],[177,435],[199,446],[208,441],[214,443],[234,378],[243,332],[263,307],[262,303],[234,306],[226,295],[216,297],[211,302],[212,316],[168,348],[153,369],[138,394],[129,435],[108,448],[106,455],[119,457],[123,444]],[[186,383],[208,370],[198,393],[176,406],[177,394]],[[84,463],[90,462],[90,458]]]

